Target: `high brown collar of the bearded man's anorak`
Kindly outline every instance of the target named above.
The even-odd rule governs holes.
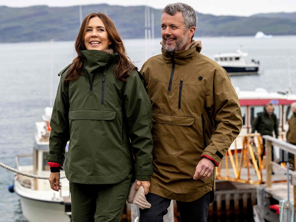
[[[172,57],[174,54],[174,61],[176,66],[188,64],[202,49],[201,41],[194,40],[191,41],[191,43],[186,47],[185,50],[176,52],[165,51],[163,49],[164,47],[162,41],[160,42],[160,44],[162,45],[161,52],[163,54],[163,60],[165,61],[165,63],[172,63]]]

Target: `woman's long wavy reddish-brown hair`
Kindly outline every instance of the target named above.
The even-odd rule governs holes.
[[[109,48],[112,48],[115,52],[118,53],[117,65],[114,67],[115,75],[118,79],[126,81],[126,78],[129,76],[128,71],[136,70],[137,67],[133,65],[133,63],[126,55],[126,49],[123,46],[123,42],[112,20],[107,15],[98,12],[87,15],[81,23],[81,27],[75,41],[75,50],[77,52],[77,57],[73,59],[72,65],[67,72],[65,83],[68,84],[70,81],[75,81],[80,75],[82,75],[81,50],[86,50],[86,47],[84,45],[84,36],[86,33],[87,25],[89,24],[89,20],[93,17],[99,17],[102,20],[109,35],[109,39],[112,42],[112,44],[109,45]]]

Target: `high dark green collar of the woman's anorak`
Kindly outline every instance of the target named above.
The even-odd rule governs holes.
[[[83,69],[88,74],[96,73],[104,68],[109,61],[115,60],[117,55],[118,53],[110,54],[109,52],[99,50],[82,50]]]

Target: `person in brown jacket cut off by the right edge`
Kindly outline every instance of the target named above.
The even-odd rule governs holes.
[[[296,145],[296,102],[291,104],[292,116],[289,119],[289,129],[286,134],[287,142],[293,145]],[[295,160],[294,155],[289,153],[289,162],[293,165],[295,169]]]

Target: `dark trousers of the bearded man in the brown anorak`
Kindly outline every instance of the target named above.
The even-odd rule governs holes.
[[[163,222],[163,216],[168,213],[170,199],[148,193],[147,201],[151,204],[150,209],[140,209],[139,222]],[[210,192],[192,202],[176,201],[180,213],[181,222],[206,222],[210,205]]]

